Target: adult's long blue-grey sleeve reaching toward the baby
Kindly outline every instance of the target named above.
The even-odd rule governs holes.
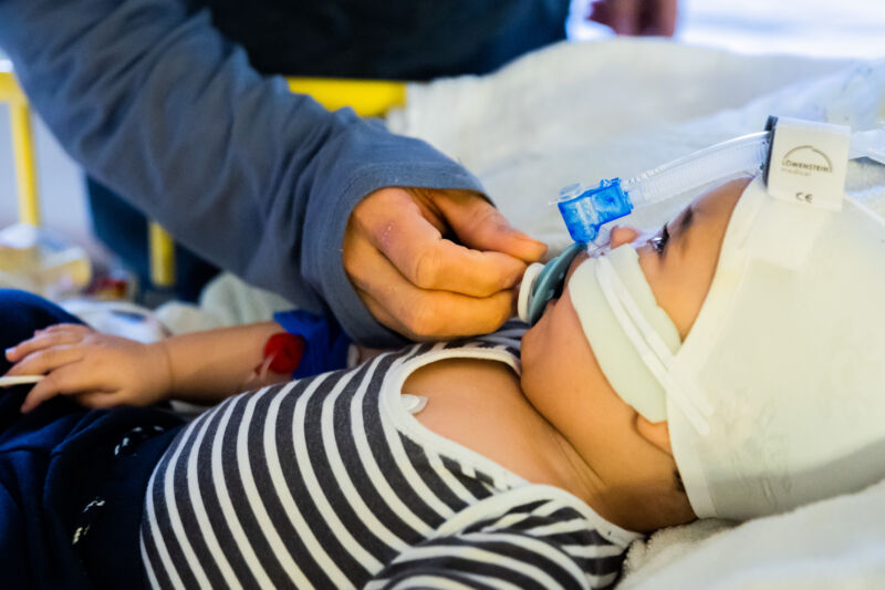
[[[0,46],[62,146],[181,244],[372,346],[403,340],[341,260],[384,186],[481,190],[424,142],[262,77],[185,0],[0,0]]]

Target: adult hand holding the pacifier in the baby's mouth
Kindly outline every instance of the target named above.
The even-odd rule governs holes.
[[[387,187],[357,205],[344,270],[368,311],[413,340],[491,332],[546,246],[467,190]]]

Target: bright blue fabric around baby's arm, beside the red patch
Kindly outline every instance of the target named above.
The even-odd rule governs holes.
[[[292,379],[309,377],[347,366],[351,339],[334,318],[293,310],[278,311],[273,319],[290,334],[304,339],[304,354],[292,373]]]

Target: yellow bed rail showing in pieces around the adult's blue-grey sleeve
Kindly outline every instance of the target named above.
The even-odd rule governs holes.
[[[347,80],[290,77],[289,89],[310,94],[316,102],[334,111],[350,106],[360,116],[383,116],[387,111],[406,103],[405,82],[384,80]],[[33,134],[28,99],[15,83],[8,62],[0,61],[0,102],[9,105],[12,131],[12,154],[19,195],[19,219],[40,225],[40,201],[37,187]],[[156,287],[175,284],[175,244],[158,224],[148,226],[150,280]]]

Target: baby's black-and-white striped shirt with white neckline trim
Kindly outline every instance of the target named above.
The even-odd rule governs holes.
[[[155,588],[610,588],[638,537],[424,427],[400,402],[448,358],[519,371],[522,324],[225,401],[148,484]]]

